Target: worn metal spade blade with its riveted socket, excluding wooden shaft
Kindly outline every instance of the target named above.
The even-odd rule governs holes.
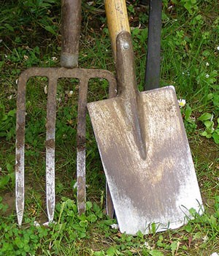
[[[120,231],[180,227],[190,208],[203,208],[174,88],[137,91],[128,32],[117,47],[119,95],[88,103],[88,112]]]

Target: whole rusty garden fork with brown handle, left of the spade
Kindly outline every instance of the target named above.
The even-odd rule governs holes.
[[[109,82],[109,96],[115,97],[115,75],[107,70],[81,69],[78,63],[80,38],[81,0],[62,0],[62,53],[60,68],[32,67],[18,78],[16,149],[15,149],[15,195],[18,225],[22,224],[24,212],[24,151],[26,122],[26,83],[33,76],[48,78],[47,91],[47,135],[46,135],[46,201],[47,217],[53,222],[55,211],[55,116],[56,88],[59,78],[77,78],[80,83],[77,116],[77,206],[81,214],[85,211],[85,114],[87,105],[88,81],[91,78],[104,78]],[[110,195],[107,196],[108,211],[113,211]]]

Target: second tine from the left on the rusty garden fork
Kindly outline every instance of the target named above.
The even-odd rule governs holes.
[[[53,222],[55,211],[55,111],[57,79],[49,78],[47,97],[46,193],[47,215]]]

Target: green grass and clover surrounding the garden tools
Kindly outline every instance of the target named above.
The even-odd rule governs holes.
[[[161,86],[179,99],[205,213],[177,230],[143,236],[121,234],[104,209],[103,167],[87,116],[88,211],[77,214],[76,129],[78,81],[58,81],[55,189],[56,225],[35,227],[45,214],[46,78],[28,82],[26,99],[26,206],[23,227],[15,216],[16,80],[28,67],[58,67],[60,1],[3,1],[0,7],[0,255],[206,255],[219,254],[219,4],[164,1]],[[128,6],[137,83],[142,90],[147,52],[147,8]],[[142,25],[139,26],[139,23]],[[82,2],[79,65],[115,72],[102,1]],[[1,41],[2,40],[2,41]],[[53,58],[55,57],[55,58]],[[88,102],[107,98],[107,83],[89,83]],[[72,91],[72,94],[69,94]],[[218,126],[218,128],[217,128]]]

